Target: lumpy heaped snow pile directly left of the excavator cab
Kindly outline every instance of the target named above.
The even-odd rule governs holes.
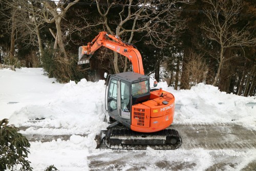
[[[22,126],[39,126],[28,129],[25,134],[90,134],[105,129],[104,81],[88,82],[82,79],[78,84],[70,81],[46,100],[45,104],[27,105],[10,116],[10,122]],[[27,122],[33,119],[38,122]],[[58,132],[54,129],[61,128]],[[23,133],[23,132],[22,132]]]

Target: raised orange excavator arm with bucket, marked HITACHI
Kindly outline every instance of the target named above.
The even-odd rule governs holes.
[[[127,57],[132,62],[133,71],[144,75],[140,52],[132,45],[125,44],[119,37],[106,32],[100,32],[87,46],[79,47],[78,64],[89,63],[94,52],[102,46]]]

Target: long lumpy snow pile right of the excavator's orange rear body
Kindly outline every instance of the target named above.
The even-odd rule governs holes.
[[[256,130],[256,97],[243,97],[220,92],[218,87],[199,83],[190,90],[175,91],[166,82],[158,87],[172,92],[176,98],[174,123],[235,122]],[[255,104],[255,105],[248,105]]]

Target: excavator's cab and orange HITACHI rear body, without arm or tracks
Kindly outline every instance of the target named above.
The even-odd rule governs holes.
[[[157,132],[172,124],[175,98],[162,89],[150,90],[150,77],[135,72],[109,75],[105,109],[109,116],[137,132]]]

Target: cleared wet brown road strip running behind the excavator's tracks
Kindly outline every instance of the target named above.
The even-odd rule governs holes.
[[[24,131],[24,135],[29,141],[50,142],[52,140],[69,140],[73,134],[54,135],[54,127],[50,135],[42,134],[39,130],[43,127],[34,126],[33,134],[26,134],[29,126],[20,126],[19,129]],[[61,128],[59,128],[61,129]],[[193,149],[256,149],[256,132],[248,130],[245,127],[235,123],[174,123],[169,126],[169,129],[175,129],[182,137],[182,145],[180,148]],[[87,134],[77,134],[82,137]],[[102,145],[101,145],[102,146]]]

